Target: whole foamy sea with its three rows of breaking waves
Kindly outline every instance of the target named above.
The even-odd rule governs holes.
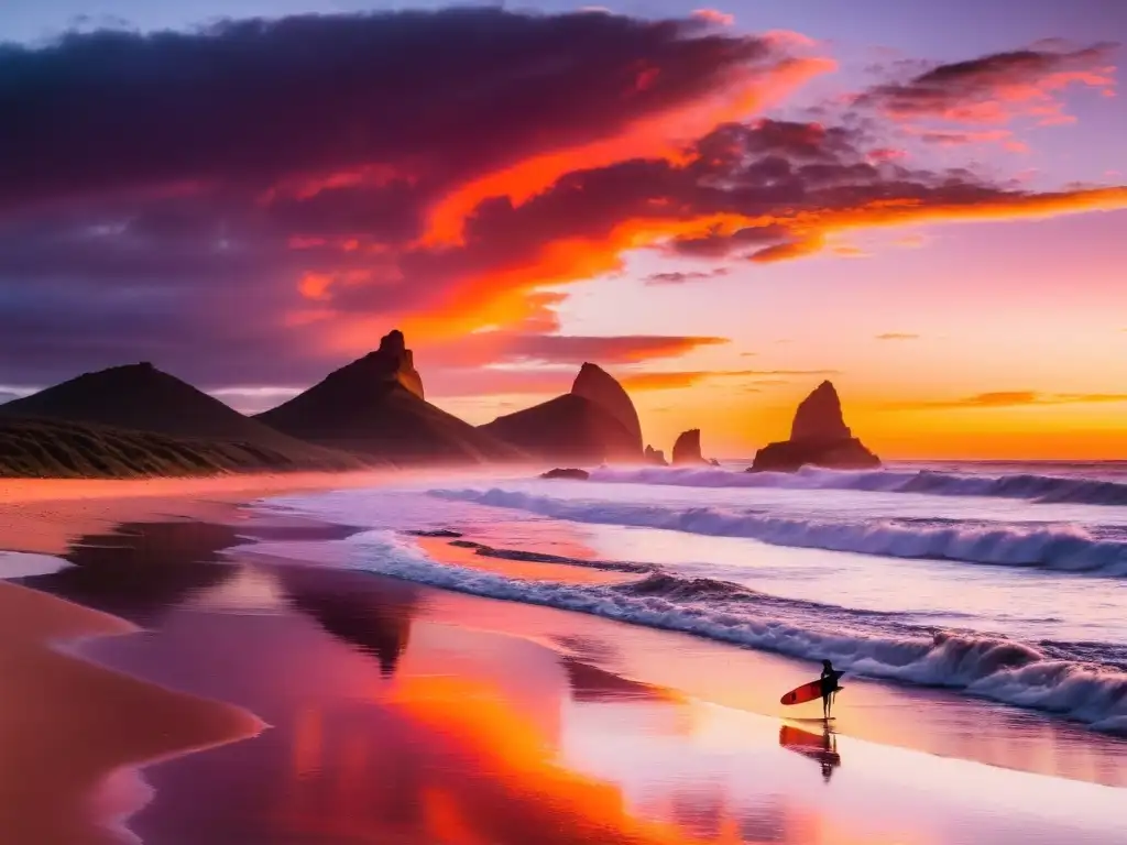
[[[450,478],[260,506],[360,528],[328,544],[336,566],[828,658],[1127,735],[1125,493],[1121,463],[721,466]],[[502,564],[620,577],[455,566],[419,535]],[[318,552],[301,545],[267,551]]]

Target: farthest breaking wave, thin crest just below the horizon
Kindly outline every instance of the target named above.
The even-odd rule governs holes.
[[[937,470],[819,470],[735,472],[721,469],[596,470],[594,481],[673,487],[861,490],[930,496],[985,496],[1041,504],[1127,505],[1127,482],[1018,473],[971,475]]]

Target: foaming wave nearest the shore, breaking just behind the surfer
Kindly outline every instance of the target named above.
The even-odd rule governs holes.
[[[1032,646],[934,631],[897,623],[891,614],[793,602],[735,584],[665,572],[611,586],[524,581],[437,563],[388,531],[341,542],[352,548],[352,566],[379,575],[805,659],[828,658],[853,674],[962,690],[1067,715],[1097,730],[1127,733],[1127,671],[1121,665],[1073,659],[1067,643]],[[876,619],[880,616],[888,619]]]

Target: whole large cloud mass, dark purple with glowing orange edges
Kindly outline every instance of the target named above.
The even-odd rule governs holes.
[[[726,123],[822,66],[783,48],[500,9],[0,46],[0,384],[148,359],[206,388],[293,386],[392,319],[454,324],[498,296],[526,308],[474,364],[676,356],[713,339],[561,336],[561,294],[540,288],[629,249],[781,260],[836,229],[1125,202],[908,169],[870,149],[871,121]],[[654,143],[690,112],[701,137]],[[436,242],[451,197],[460,231]]]

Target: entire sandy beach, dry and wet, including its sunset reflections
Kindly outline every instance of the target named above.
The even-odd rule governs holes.
[[[1127,842],[1120,739],[869,681],[827,731],[778,705],[808,664],[302,561],[352,530],[240,507],[334,486],[7,490],[3,545],[63,558],[0,584],[14,842]]]

